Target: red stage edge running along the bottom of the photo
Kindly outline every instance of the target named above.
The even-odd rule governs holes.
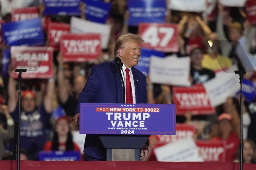
[[[137,162],[137,161],[20,161],[20,170],[124,170],[124,169],[175,169],[175,170],[239,170],[234,162]],[[243,164],[244,169],[256,169],[256,164]],[[16,160],[0,161],[1,170],[16,170]]]

